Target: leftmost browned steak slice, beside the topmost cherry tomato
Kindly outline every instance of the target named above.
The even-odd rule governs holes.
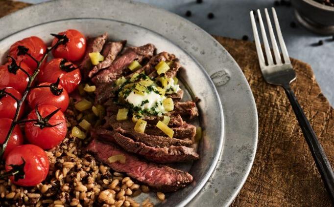
[[[88,73],[92,69],[92,62],[89,57],[89,53],[100,52],[106,40],[107,40],[107,33],[104,33],[103,35],[100,35],[96,38],[88,39],[86,54],[81,62],[82,75],[85,79],[88,77]]]

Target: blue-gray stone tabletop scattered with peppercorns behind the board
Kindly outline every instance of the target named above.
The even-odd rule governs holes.
[[[46,0],[22,0],[38,3]],[[231,38],[242,38],[247,35],[253,40],[249,11],[273,6],[274,0],[203,0],[197,4],[196,0],[139,0],[149,3],[185,17],[187,10],[192,16],[187,18],[210,34]],[[304,29],[301,25],[291,28],[290,22],[295,21],[293,8],[276,7],[281,23],[287,50],[293,58],[308,62],[315,74],[324,95],[331,105],[334,105],[334,41],[325,41],[331,37],[320,37]],[[207,14],[213,12],[215,18],[209,20]],[[322,46],[312,46],[319,40],[324,40]],[[298,77],[297,77],[298,78]]]

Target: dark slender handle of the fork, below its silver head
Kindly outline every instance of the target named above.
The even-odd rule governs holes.
[[[286,91],[286,95],[290,101],[292,109],[296,115],[298,123],[302,128],[306,142],[309,145],[315,164],[320,172],[321,178],[325,184],[327,192],[334,203],[334,173],[331,164],[322,148],[318,138],[316,137],[314,130],[306,118],[302,107],[299,105],[297,98],[289,85],[284,85],[283,88]]]

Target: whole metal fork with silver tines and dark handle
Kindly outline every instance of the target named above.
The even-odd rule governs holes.
[[[280,51],[276,43],[276,38],[274,35],[273,27],[271,25],[268,10],[265,8],[264,13],[265,13],[265,18],[267,20],[268,31],[270,35],[270,41],[272,44],[272,49],[273,49],[273,53],[275,56],[275,60],[273,60],[273,57],[271,54],[271,50],[270,50],[269,43],[267,40],[267,36],[266,36],[266,32],[265,32],[260,10],[258,9],[257,12],[258,12],[258,17],[259,17],[261,35],[263,39],[264,52],[265,52],[267,63],[265,62],[265,59],[263,56],[262,47],[261,47],[253,11],[250,12],[250,18],[252,22],[253,34],[254,34],[254,39],[255,39],[255,44],[256,44],[256,51],[258,53],[262,75],[267,83],[280,85],[284,88],[286,95],[292,106],[292,109],[296,115],[298,123],[300,127],[302,128],[305,140],[307,144],[309,145],[313,159],[315,161],[316,166],[318,167],[318,170],[325,184],[327,192],[330,195],[332,203],[334,203],[333,169],[324,152],[324,149],[322,148],[321,144],[319,143],[319,140],[317,139],[312,129],[312,126],[310,125],[309,120],[306,118],[303,109],[299,105],[296,96],[294,95],[293,91],[290,88],[290,83],[296,79],[296,74],[292,68],[292,65],[289,59],[289,55],[287,54],[286,44],[283,40],[283,36],[282,36],[280,25],[277,19],[275,8],[272,8],[272,13],[273,13],[276,33],[277,33],[278,41],[280,43],[280,47],[282,50],[284,62],[282,62]]]

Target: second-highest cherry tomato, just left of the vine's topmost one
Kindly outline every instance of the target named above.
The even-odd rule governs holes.
[[[18,46],[22,45],[28,48],[28,53],[34,57],[37,61],[41,61],[44,54],[47,51],[47,45],[38,37],[32,36],[28,38],[24,38],[21,41],[17,41],[9,49],[9,56],[13,57],[17,62],[24,62],[27,64],[32,70],[35,70],[37,67],[37,63],[28,55],[17,55]]]

